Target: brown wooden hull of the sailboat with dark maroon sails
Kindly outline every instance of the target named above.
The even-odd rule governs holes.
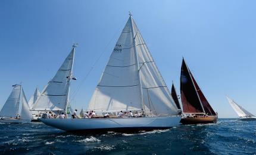
[[[199,118],[182,118],[180,122],[182,124],[207,124],[207,123],[216,123],[217,116],[209,116],[209,117],[199,117]]]

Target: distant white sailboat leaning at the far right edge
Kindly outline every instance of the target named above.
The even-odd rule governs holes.
[[[241,105],[236,104],[233,99],[230,99],[228,96],[227,101],[229,101],[229,104],[232,106],[232,108],[235,110],[236,114],[239,116],[239,121],[255,121],[256,117],[255,115],[252,115],[250,112],[246,111]]]

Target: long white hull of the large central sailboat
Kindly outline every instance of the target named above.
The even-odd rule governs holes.
[[[180,117],[140,117],[140,118],[88,118],[61,119],[40,118],[39,121],[64,131],[139,131],[167,129],[179,125]]]

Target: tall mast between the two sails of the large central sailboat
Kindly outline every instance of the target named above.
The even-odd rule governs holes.
[[[145,103],[144,103],[143,92],[142,92],[142,83],[141,83],[140,66],[139,66],[139,56],[138,56],[137,46],[136,46],[136,41],[135,41],[138,32],[136,34],[134,34],[135,32],[134,32],[134,28],[133,28],[133,18],[132,18],[132,14],[130,13],[130,11],[129,11],[129,15],[130,15],[130,21],[131,21],[131,24],[132,24],[133,45],[134,45],[136,60],[137,60],[137,64],[138,64],[139,88],[140,88],[140,92],[141,92],[141,102],[142,102],[141,107],[143,108],[143,112],[145,114]]]

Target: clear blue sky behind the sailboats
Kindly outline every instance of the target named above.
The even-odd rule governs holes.
[[[169,88],[174,80],[179,93],[184,56],[220,118],[238,117],[226,94],[255,115],[255,6],[252,0],[2,0],[0,107],[15,83],[23,82],[27,99],[36,86],[41,91],[79,43],[70,98],[73,108],[85,109],[132,11]]]

